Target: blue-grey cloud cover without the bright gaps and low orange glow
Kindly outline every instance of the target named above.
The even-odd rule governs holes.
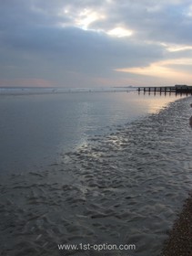
[[[4,79],[43,78],[65,85],[85,78],[90,84],[91,78],[123,76],[115,69],[146,67],[191,53],[167,52],[160,44],[190,45],[190,1],[0,0],[0,5]],[[104,18],[82,29],[76,20],[84,18],[79,14],[85,8]],[[133,36],[108,36],[114,27],[131,29]]]

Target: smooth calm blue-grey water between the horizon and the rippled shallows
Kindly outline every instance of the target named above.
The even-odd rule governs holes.
[[[178,97],[179,98],[179,97]],[[116,131],[176,96],[136,92],[1,95],[1,173],[51,164],[56,155],[85,144],[89,136]]]

